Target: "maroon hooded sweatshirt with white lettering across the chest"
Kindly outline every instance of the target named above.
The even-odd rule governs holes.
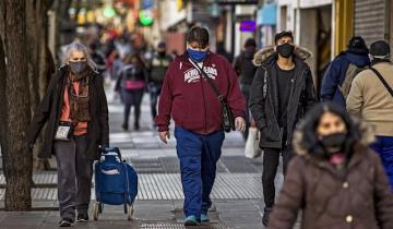
[[[246,100],[230,63],[221,55],[211,52],[203,62],[235,118],[246,116]],[[158,104],[156,124],[167,131],[170,118],[177,126],[199,134],[223,130],[223,108],[209,82],[189,61],[189,56],[177,57],[166,73]]]

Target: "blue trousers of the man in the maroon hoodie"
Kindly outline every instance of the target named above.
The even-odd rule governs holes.
[[[223,131],[196,134],[177,126],[175,136],[184,193],[184,214],[200,218],[212,206],[210,194],[225,134]]]

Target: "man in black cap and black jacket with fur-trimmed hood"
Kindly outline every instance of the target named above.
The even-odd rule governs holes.
[[[285,174],[296,123],[317,103],[311,71],[303,61],[311,55],[293,44],[291,32],[278,33],[275,47],[266,47],[254,57],[254,64],[259,68],[251,86],[250,109],[261,132],[260,147],[264,152],[264,226],[274,205],[279,154]]]

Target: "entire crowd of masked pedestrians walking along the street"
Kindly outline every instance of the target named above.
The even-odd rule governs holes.
[[[264,226],[291,228],[301,210],[305,229],[393,228],[388,43],[367,47],[361,37],[353,37],[329,65],[317,95],[307,64],[312,55],[294,44],[291,32],[277,33],[274,45],[260,50],[248,39],[234,61],[211,50],[209,29],[201,26],[189,29],[179,56],[169,53],[164,41],[147,51],[130,37],[123,33],[103,45],[70,44],[34,112],[27,143],[34,147],[47,123],[40,157],[57,158],[60,227],[70,227],[75,216],[88,220],[92,165],[99,148],[109,146],[104,91],[109,81],[124,106],[123,131],[130,130],[131,109],[132,131],[141,130],[146,93],[151,128],[164,143],[175,122],[186,226],[210,221],[225,131],[240,131],[247,140],[257,137],[248,134],[255,126],[263,150]],[[276,202],[281,157],[285,180]]]

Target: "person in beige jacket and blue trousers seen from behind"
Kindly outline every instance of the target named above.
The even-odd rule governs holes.
[[[370,46],[371,68],[353,82],[347,110],[374,128],[377,142],[371,145],[380,157],[393,190],[393,65],[384,40]]]

